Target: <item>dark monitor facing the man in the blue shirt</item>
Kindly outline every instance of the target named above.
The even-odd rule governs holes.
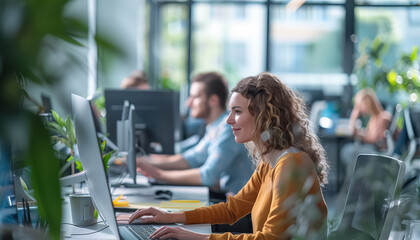
[[[174,154],[180,137],[179,94],[168,90],[105,90],[107,132],[113,141],[125,100],[135,106],[137,147],[146,153]]]

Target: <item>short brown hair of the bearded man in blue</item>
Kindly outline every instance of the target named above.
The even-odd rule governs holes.
[[[194,82],[204,83],[204,91],[207,97],[215,94],[217,97],[219,97],[220,107],[222,109],[226,109],[228,86],[223,75],[217,72],[200,73],[194,76],[191,83]]]

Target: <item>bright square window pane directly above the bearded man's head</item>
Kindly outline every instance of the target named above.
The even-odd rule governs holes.
[[[193,6],[193,73],[219,71],[233,87],[265,66],[264,5]]]

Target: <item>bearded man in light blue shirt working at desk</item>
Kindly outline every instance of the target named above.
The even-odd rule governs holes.
[[[138,171],[158,182],[209,186],[213,192],[236,194],[254,170],[243,144],[237,144],[226,123],[228,88],[215,72],[195,76],[187,106],[207,124],[204,137],[182,154],[137,158]]]

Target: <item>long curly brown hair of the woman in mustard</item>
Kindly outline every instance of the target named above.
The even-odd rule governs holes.
[[[254,117],[253,139],[262,139],[262,146],[245,144],[259,164],[274,149],[295,147],[306,152],[315,163],[322,185],[328,182],[325,150],[315,135],[303,100],[271,73],[242,79],[231,91],[248,99],[248,110]]]

